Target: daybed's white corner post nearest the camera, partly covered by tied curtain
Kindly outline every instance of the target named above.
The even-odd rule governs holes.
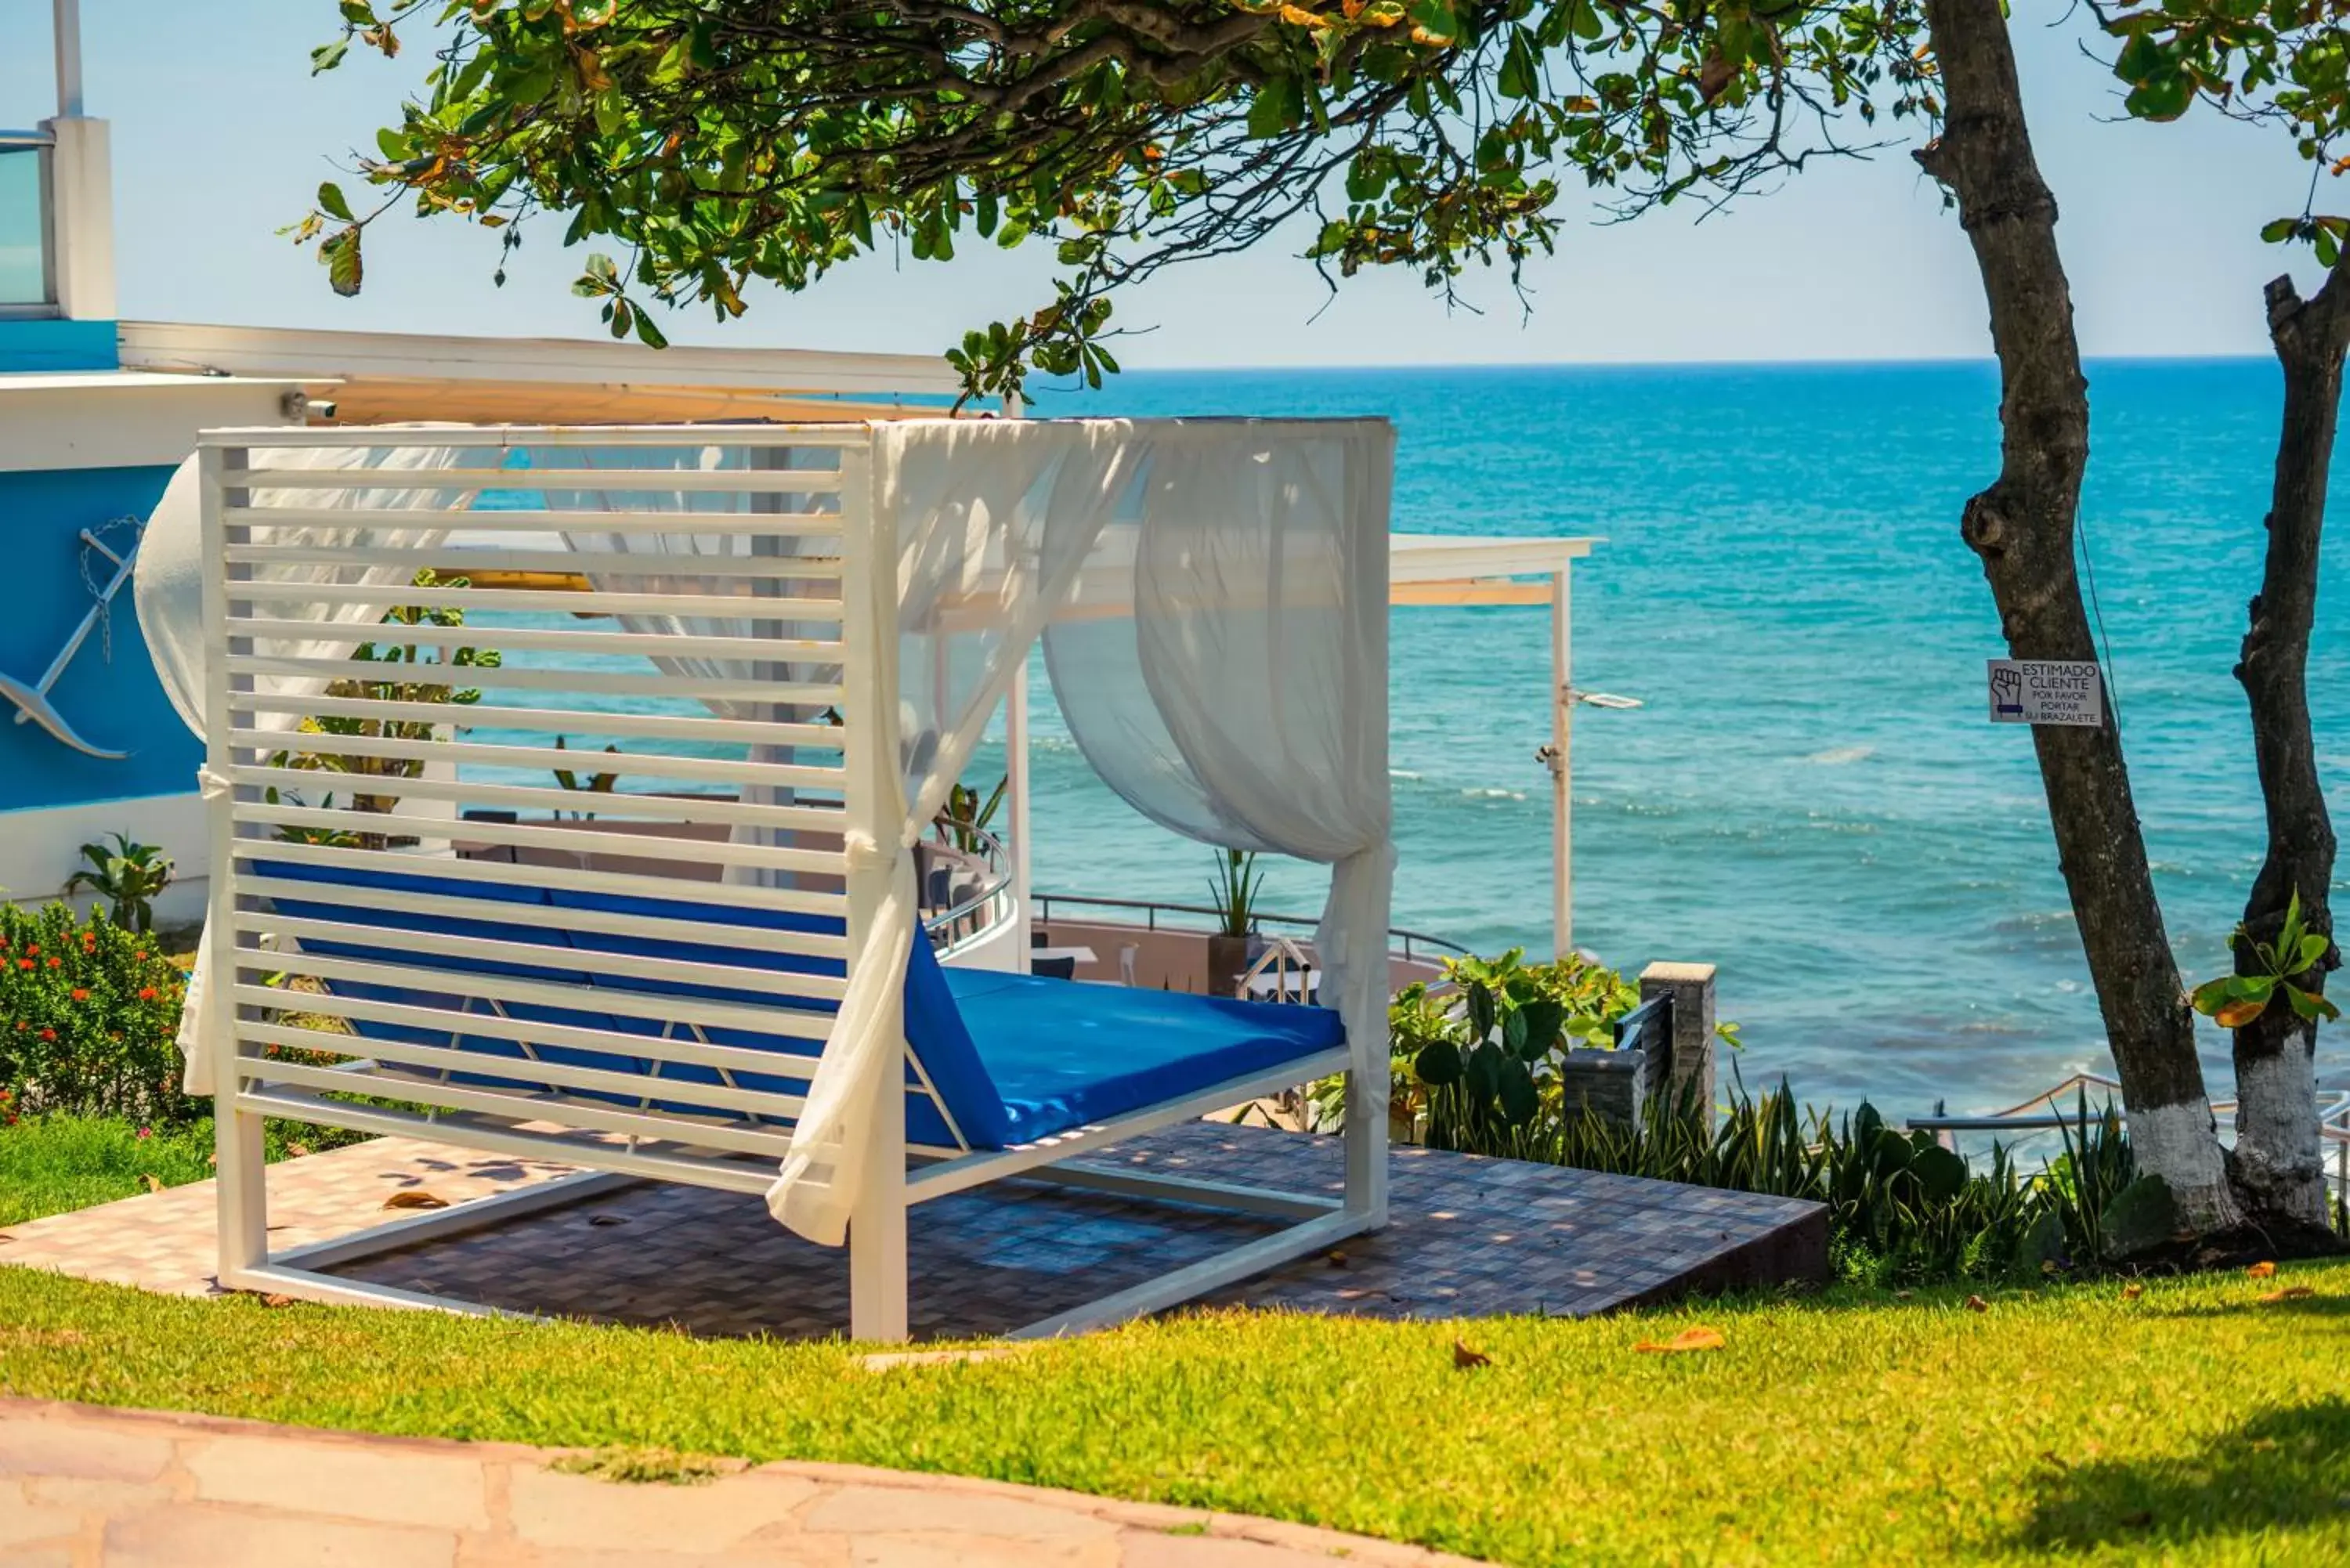
[[[879,649],[881,637],[895,637],[898,628],[874,623],[872,581],[877,571],[893,569],[898,550],[874,505],[877,484],[867,435],[865,444],[841,451],[841,717],[848,722],[841,762],[848,771],[848,823],[881,844],[895,844],[905,823],[886,820],[881,802],[898,792],[884,788],[881,769],[902,766],[891,743],[898,733],[898,691],[881,679]],[[893,875],[848,870],[851,961],[865,950]],[[924,940],[919,910],[914,940]],[[848,1215],[848,1333],[877,1342],[907,1338],[902,1039],[898,1051],[858,1138],[855,1157],[865,1164],[865,1180]]]

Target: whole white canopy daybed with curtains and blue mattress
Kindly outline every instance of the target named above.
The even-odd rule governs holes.
[[[190,1091],[219,1100],[221,1281],[423,1302],[322,1269],[498,1218],[273,1255],[266,1114],[583,1168],[484,1201],[501,1215],[630,1178],[764,1192],[848,1244],[870,1340],[907,1333],[907,1208],[1001,1175],[1292,1220],[1041,1333],[1382,1225],[1391,458],[1384,421],[207,435],[150,524],[139,611],[209,743],[214,903],[183,1041]],[[536,536],[468,559],[590,592],[416,588],[451,529]],[[465,625],[385,623],[395,607]],[[1130,804],[1332,867],[1330,1011],[938,966],[909,849],[1039,639]],[[482,693],[454,708],[425,670],[461,646],[503,661],[451,672]],[[421,663],[388,670],[385,649]],[[583,729],[627,741],[597,757],[623,792],[595,797],[592,835],[562,820],[583,797],[529,783]],[[724,875],[611,870],[674,853],[660,823],[724,823]],[[352,1032],[282,1016],[277,973]],[[1349,1074],[1342,1199],[1081,1161],[1330,1072]]]

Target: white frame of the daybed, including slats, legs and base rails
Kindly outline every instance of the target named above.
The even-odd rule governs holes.
[[[538,454],[526,477],[515,470],[385,470],[385,468],[261,468],[249,449],[324,447],[388,449],[411,444],[529,447]],[[721,468],[627,470],[613,454],[627,449],[750,449],[745,463]],[[595,468],[559,468],[548,451],[595,449]],[[766,458],[787,454],[785,465]],[[830,465],[799,465],[799,458],[825,458]],[[219,785],[212,802],[212,931],[219,964],[207,980],[207,1048],[216,1072],[219,1117],[219,1244],[221,1284],[266,1288],[322,1300],[367,1300],[392,1305],[430,1305],[479,1309],[465,1302],[421,1298],[378,1286],[338,1279],[324,1269],[371,1251],[407,1246],[435,1234],[498,1222],[508,1215],[545,1208],[602,1192],[613,1182],[656,1178],[682,1180],[733,1192],[764,1192],[776,1164],[790,1147],[790,1124],[799,1112],[797,1095],[738,1081],[738,1072],[806,1077],[820,1053],[830,1016],[808,1011],[808,999],[839,997],[841,978],[783,976],[750,966],[679,964],[637,952],[595,952],[569,945],[562,931],[548,945],[519,938],[482,940],[477,936],[409,931],[397,938],[397,961],[308,952],[310,943],[390,945],[383,931],[345,919],[277,912],[273,896],[308,898],[343,910],[400,910],[421,917],[498,919],[496,905],[402,889],[320,886],[273,877],[266,860],[310,867],[367,867],[428,872],[454,882],[508,884],[517,879],[510,863],[458,858],[458,842],[505,849],[515,858],[578,856],[578,863],[529,863],[522,872],[531,884],[571,891],[630,893],[646,898],[686,898],[747,910],[783,910],[844,919],[846,936],[804,931],[731,929],[740,947],[839,957],[853,961],[865,931],[886,893],[886,872],[853,865],[844,853],[844,835],[865,830],[879,839],[895,837],[898,823],[879,818],[881,769],[895,766],[895,755],[862,715],[895,710],[895,693],[879,691],[879,661],[870,649],[879,637],[895,637],[895,625],[870,625],[867,578],[893,569],[874,559],[872,541],[872,433],[865,425],[710,425],[710,428],[529,428],[529,430],[233,430],[212,433],[200,449],[204,491],[204,559],[212,562],[204,583],[207,646],[212,658],[207,712],[209,771]],[[411,567],[446,564],[439,545],[416,550],[348,548],[338,543],[287,543],[280,531],[296,524],[400,524],[430,520],[421,510],[338,510],[266,505],[273,489],[355,491],[397,489],[451,491],[463,487],[580,491],[625,498],[644,491],[684,491],[700,496],[747,498],[747,510],[665,510],[651,515],[588,512],[573,522],[599,534],[658,529],[663,534],[750,536],[752,548],[719,557],[649,557],[599,548],[529,552],[531,559],[559,557],[566,571],[590,574],[588,592],[548,597],[505,590],[416,590],[404,588]],[[454,527],[496,531],[510,527],[545,534],[550,515],[538,512],[465,512]],[[595,541],[590,541],[595,543]],[[806,552],[794,552],[794,545]],[[515,552],[505,552],[515,555]],[[395,569],[392,585],[317,585],[287,578],[287,569],[345,567]],[[642,592],[644,578],[667,578],[656,592]],[[689,583],[679,583],[689,578]],[[693,588],[693,592],[686,592]],[[320,639],[315,618],[298,618],[301,607],[392,607],[411,602],[461,604],[475,614],[463,630],[385,628],[374,621],[348,623],[352,639],[378,644],[414,644],[449,649],[475,644],[508,654],[526,654],[505,668],[468,670],[463,684],[479,686],[484,701],[470,710],[437,703],[407,703],[348,691],[334,696],[256,691],[256,677],[306,675],[313,679],[381,677],[383,665],[352,658],[317,658],[296,644]],[[674,635],[667,630],[573,630],[498,625],[498,611],[564,614],[677,614],[712,616],[740,623],[752,602],[761,614],[771,604],[776,621],[757,621],[757,635]],[[489,614],[491,621],[479,621]],[[834,628],[834,630],[825,630]],[[660,672],[613,670],[599,663],[611,654],[750,658],[773,675],[773,665],[820,665],[837,679],[776,682],[738,679],[712,665],[670,665]],[[414,679],[414,668],[404,679]],[[757,717],[700,717],[693,712],[588,715],[559,705],[559,696],[592,698],[731,698],[764,703]],[[818,722],[825,708],[837,708],[846,724]],[[468,736],[449,733],[449,719],[463,712]],[[397,736],[310,736],[298,750],[345,757],[388,757],[421,764],[416,778],[369,778],[367,792],[390,797],[392,816],[362,813],[348,804],[313,799],[331,773],[282,766],[277,750],[289,745],[282,729],[263,729],[261,715],[322,715],[355,719],[409,719],[430,724],[430,738]],[[726,755],[642,750],[632,745],[618,757],[595,755],[599,771],[620,771],[642,788],[625,795],[595,797],[595,806],[613,820],[583,832],[557,820],[477,823],[458,820],[456,806],[501,806],[515,811],[580,809],[583,797],[526,783],[461,780],[449,764],[498,764],[548,769],[578,764],[583,752],[552,750],[548,733],[618,733],[639,743],[728,743]],[[505,738],[496,738],[505,736]],[[522,736],[522,738],[515,738]],[[773,748],[790,748],[773,759]],[[818,762],[834,755],[839,762]],[[649,795],[689,785],[733,785],[733,797]],[[270,799],[270,795],[277,799]],[[301,799],[296,799],[296,795]],[[646,870],[679,853],[674,839],[632,835],[632,820],[726,823],[752,827],[733,839],[700,842],[693,858],[721,867],[740,867],[736,882],[693,882]],[[411,835],[409,851],[364,849],[331,842],[287,842],[284,832],[371,832],[395,827]],[[397,858],[385,858],[397,856]],[[416,856],[416,858],[409,858]],[[590,856],[634,856],[627,867],[597,865]],[[595,931],[639,940],[696,940],[677,922],[634,912],[566,912],[566,931]],[[710,940],[703,929],[698,940]],[[463,959],[508,959],[536,969],[580,973],[590,985],[569,980],[484,976],[461,969]],[[444,1034],[444,1039],[364,1039],[313,1030],[277,1016],[287,992],[270,976],[308,976],[313,980],[383,985],[425,992],[423,999],[367,999],[336,994],[320,1004],[345,1018],[407,1025]],[[745,999],[679,999],[595,985],[595,978],[686,978],[721,985]],[[446,997],[446,1001],[442,1001]],[[538,1023],[515,1009],[564,1009],[604,1018],[637,1018],[627,1032],[580,1023]],[[754,1030],[768,1037],[806,1041],[804,1056],[773,1048],[731,1046],[712,1030]],[[463,1051],[461,1039],[501,1039],[522,1058]],[[651,1063],[649,1077],[606,1067],[545,1060],[540,1046],[604,1051]],[[275,1056],[273,1056],[275,1051]],[[287,1056],[322,1053],[322,1056]],[[1384,1051],[1377,1053],[1384,1067]],[[331,1060],[329,1060],[331,1058]],[[928,1098],[942,1124],[954,1131],[945,1098],[921,1074],[921,1063],[907,1051],[914,1081],[907,1095]],[[663,1086],[670,1067],[717,1070],[719,1084]],[[1344,1048],[1311,1060],[1290,1063],[1217,1084],[1177,1103],[1154,1105],[1100,1126],[1076,1128],[1055,1138],[1010,1150],[978,1150],[956,1131],[952,1147],[907,1147],[905,1114],[898,1095],[884,1095],[865,1131],[867,1180],[851,1220],[851,1331],[860,1340],[907,1338],[907,1211],[914,1204],[964,1192],[980,1182],[1025,1175],[1090,1190],[1156,1197],[1189,1204],[1217,1204],[1248,1213],[1290,1220],[1257,1241],[1217,1258],[1175,1269],[1144,1286],[1107,1295],[1072,1312],[1055,1314],[1025,1333],[1065,1333],[1109,1324],[1177,1305],[1203,1291],[1246,1279],[1288,1258],[1309,1255],[1332,1241],[1384,1222],[1386,1147],[1384,1126],[1349,1128],[1347,1190],[1332,1194],[1264,1192],[1246,1185],[1201,1182],[1168,1175],[1083,1164],[1083,1157],[1137,1133],[1201,1117],[1304,1079],[1347,1072]],[[494,1074],[519,1086],[456,1084],[454,1074]],[[1379,1086],[1384,1088],[1384,1084]],[[637,1105],[616,1105],[597,1095],[634,1095]],[[350,1100],[343,1095],[367,1095]],[[710,1114],[686,1114],[660,1105],[672,1098]],[[1377,1103],[1379,1095],[1349,1095],[1349,1103]],[[385,1103],[388,1100],[388,1103]],[[418,1110],[421,1107],[421,1110]],[[566,1161],[583,1175],[512,1194],[498,1194],[449,1211],[421,1213],[378,1225],[357,1237],[273,1253],[266,1222],[266,1171],[261,1157],[263,1117],[296,1117],[331,1126],[404,1133],[461,1147],[501,1154],[524,1154]]]

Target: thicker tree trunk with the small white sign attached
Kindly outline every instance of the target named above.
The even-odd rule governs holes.
[[[2089,383],[2056,254],[2056,197],[2033,160],[2000,0],[1927,0],[1925,12],[1943,134],[1918,165],[1958,202],[2000,360],[2000,477],[1967,501],[1962,531],[1983,562],[2014,658],[2094,661],[2073,569]],[[2230,1232],[2240,1211],[2110,705],[2099,729],[2035,724],[2033,750],[2138,1171],[2164,1180],[2183,1229]]]

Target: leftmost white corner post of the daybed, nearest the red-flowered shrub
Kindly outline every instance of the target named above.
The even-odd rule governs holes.
[[[204,494],[204,559],[221,562],[228,545],[247,543],[249,529],[228,527],[226,508],[244,505],[247,491],[226,489],[221,477],[228,468],[244,468],[242,449],[204,447],[200,458],[200,477]],[[230,675],[230,656],[249,656],[249,637],[228,637],[228,616],[247,614],[242,602],[230,604],[230,578],[249,578],[251,567],[212,567],[204,569],[204,646],[209,651],[209,672],[204,691],[204,762],[214,773],[226,776],[235,766],[235,752],[228,745],[228,731],[233,729],[233,717],[228,710],[230,693],[251,691],[251,675]],[[204,1016],[197,1020],[202,1032],[202,1053],[212,1063],[212,1126],[214,1126],[214,1161],[216,1171],[216,1199],[219,1199],[219,1281],[228,1288],[244,1284],[247,1269],[258,1269],[270,1260],[268,1241],[268,1185],[261,1150],[261,1117],[256,1112],[237,1110],[237,1093],[244,1088],[244,1072],[237,1048],[237,964],[240,964],[240,938],[235,931],[237,917],[237,863],[235,863],[235,792],[219,795],[209,802],[209,830],[212,830],[212,907],[207,912],[209,936],[204,947],[209,950],[207,973],[204,973]]]

